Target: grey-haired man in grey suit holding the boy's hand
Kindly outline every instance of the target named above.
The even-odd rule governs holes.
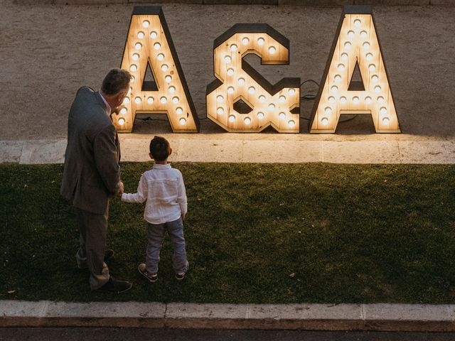
[[[132,75],[110,70],[100,92],[81,87],[68,117],[68,145],[60,194],[73,201],[80,231],[77,266],[88,267],[90,288],[122,293],[132,284],[109,275],[105,259],[109,195],[123,193],[120,146],[111,114],[122,104]]]

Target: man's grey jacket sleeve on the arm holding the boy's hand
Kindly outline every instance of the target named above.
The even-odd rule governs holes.
[[[106,126],[93,141],[93,153],[98,173],[109,193],[114,194],[120,181],[120,166],[117,159],[116,131],[113,125]]]

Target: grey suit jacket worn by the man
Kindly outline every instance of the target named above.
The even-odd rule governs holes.
[[[68,117],[60,194],[81,210],[105,214],[120,181],[117,129],[99,92],[81,87]]]

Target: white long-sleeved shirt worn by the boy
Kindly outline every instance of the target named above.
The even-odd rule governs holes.
[[[173,222],[188,210],[183,176],[170,164],[155,164],[139,180],[137,193],[123,193],[122,201],[146,202],[144,219],[151,224]]]

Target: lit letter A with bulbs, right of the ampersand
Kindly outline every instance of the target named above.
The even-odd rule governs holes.
[[[335,133],[341,114],[370,114],[377,133],[401,132],[370,6],[344,7],[322,80],[310,133]]]

